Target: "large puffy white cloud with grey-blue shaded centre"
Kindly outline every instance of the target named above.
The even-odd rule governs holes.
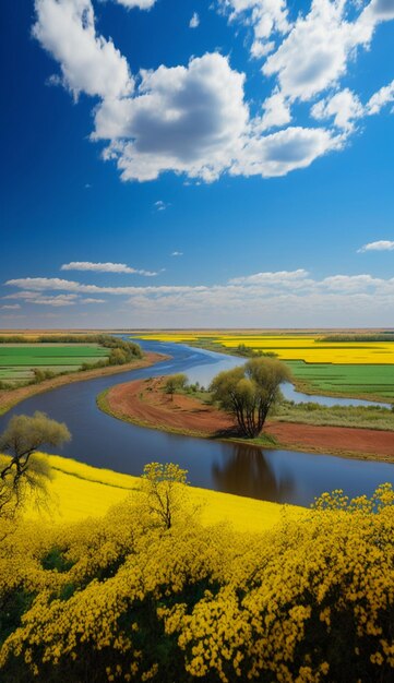
[[[166,170],[206,181],[230,164],[247,130],[244,75],[206,53],[188,67],[143,71],[139,96],[104,101],[93,139],[111,140],[123,180],[153,180]]]

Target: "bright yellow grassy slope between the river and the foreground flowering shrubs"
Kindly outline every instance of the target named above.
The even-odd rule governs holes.
[[[52,499],[49,516],[29,507],[26,511],[28,518],[61,523],[77,522],[88,516],[100,517],[111,505],[132,496],[140,488],[139,477],[91,467],[58,455],[49,458],[56,475],[49,484]],[[264,531],[278,524],[284,514],[295,519],[305,514],[303,508],[292,505],[284,506],[194,487],[190,487],[189,491],[191,502],[201,506],[201,519],[205,525],[230,522],[240,531]]]

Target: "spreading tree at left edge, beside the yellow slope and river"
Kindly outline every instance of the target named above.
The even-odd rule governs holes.
[[[29,493],[45,496],[50,478],[48,460],[37,451],[70,441],[64,423],[45,412],[15,415],[0,436],[0,516],[13,516]]]

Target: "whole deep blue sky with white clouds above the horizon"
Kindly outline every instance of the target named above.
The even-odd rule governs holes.
[[[0,326],[391,326],[394,0],[3,3]]]

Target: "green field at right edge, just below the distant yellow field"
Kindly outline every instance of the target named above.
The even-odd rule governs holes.
[[[287,361],[295,378],[315,393],[375,396],[394,402],[394,364],[334,364]],[[307,388],[307,387],[306,387]]]

